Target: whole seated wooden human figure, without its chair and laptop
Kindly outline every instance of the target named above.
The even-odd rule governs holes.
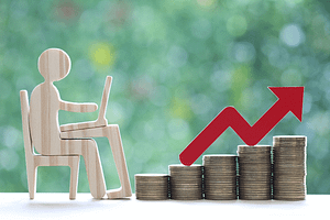
[[[31,94],[30,128],[32,143],[35,150],[42,155],[82,155],[90,193],[94,198],[102,198],[107,191],[97,143],[92,139],[85,139],[86,136],[84,139],[62,138],[58,124],[58,110],[92,112],[98,107],[96,103],[74,103],[61,99],[59,92],[53,82],[65,78],[70,70],[70,59],[64,51],[48,48],[43,52],[38,58],[38,70],[45,81],[37,85]],[[107,128],[106,124],[102,127]],[[108,135],[108,139],[113,136],[113,134],[105,134]],[[96,136],[101,136],[101,134],[97,134]],[[119,141],[120,144],[116,145]],[[113,193],[108,193],[108,197],[121,198],[131,196],[120,136],[111,140],[111,142],[116,142],[113,146],[111,145],[111,150],[112,152],[114,151],[114,162],[119,170],[122,187]]]

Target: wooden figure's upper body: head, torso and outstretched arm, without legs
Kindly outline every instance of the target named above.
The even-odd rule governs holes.
[[[46,50],[38,58],[38,70],[45,81],[37,85],[31,95],[30,127],[32,142],[43,155],[61,155],[58,110],[91,112],[96,103],[63,101],[53,81],[67,76],[70,69],[68,55],[56,48]]]

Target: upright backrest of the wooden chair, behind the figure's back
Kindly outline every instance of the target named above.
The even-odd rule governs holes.
[[[21,112],[22,112],[22,127],[23,127],[23,136],[24,136],[25,157],[28,158],[33,155],[33,145],[32,145],[30,125],[29,125],[30,107],[29,107],[28,91],[21,90],[20,98],[21,98]]]

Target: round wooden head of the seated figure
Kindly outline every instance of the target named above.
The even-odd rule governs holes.
[[[37,67],[45,81],[58,81],[70,72],[70,57],[59,48],[44,51],[37,61]]]

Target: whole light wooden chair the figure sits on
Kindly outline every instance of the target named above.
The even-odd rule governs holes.
[[[35,154],[33,143],[31,140],[30,124],[29,124],[30,107],[29,107],[28,91],[21,90],[20,98],[21,98],[22,125],[23,125],[30,199],[34,199],[34,194],[36,190],[37,166],[69,166],[70,167],[69,198],[76,199],[77,185],[78,185],[78,170],[79,170],[79,155],[46,156],[46,155]]]

